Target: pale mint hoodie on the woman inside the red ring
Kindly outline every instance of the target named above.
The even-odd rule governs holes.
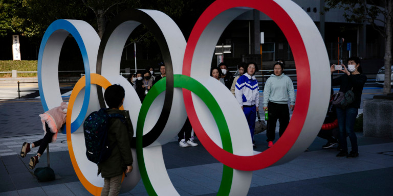
[[[288,100],[291,101],[291,105],[295,105],[292,80],[285,74],[280,76],[272,74],[265,84],[264,107],[268,107],[269,101],[276,104],[288,104]]]

